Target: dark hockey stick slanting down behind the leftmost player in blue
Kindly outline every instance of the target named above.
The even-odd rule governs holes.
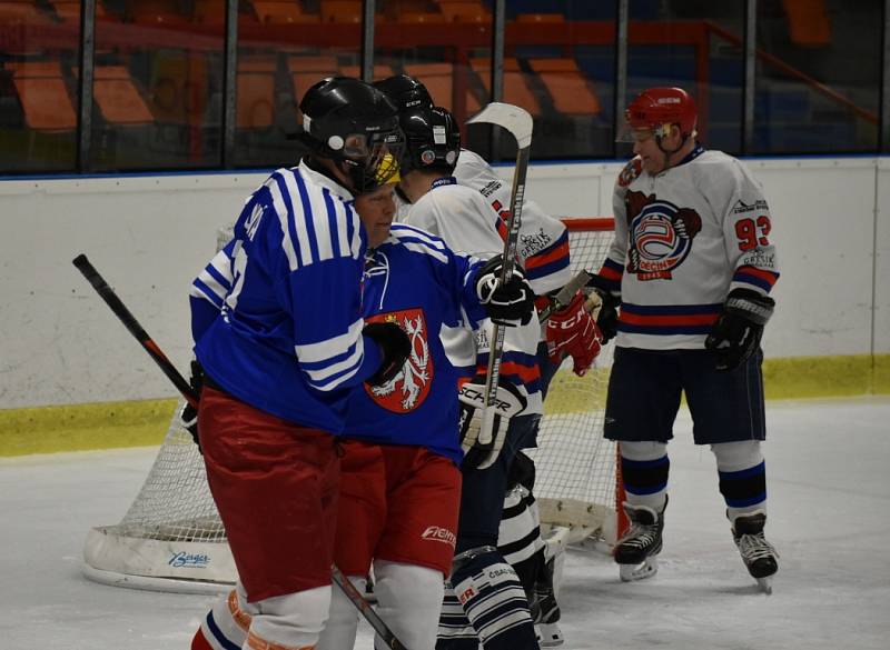
[[[191,386],[186,381],[186,378],[182,377],[179,371],[176,369],[176,366],[167,358],[167,356],[161,351],[158,344],[148,336],[148,333],[142,329],[142,326],[139,324],[139,321],[136,320],[136,317],[130,313],[130,310],[127,309],[127,306],[118,298],[118,294],[115,293],[115,290],[108,286],[108,282],[105,281],[101,273],[96,270],[96,267],[90,263],[87,259],[87,256],[81,253],[77,256],[72,262],[77,269],[83,273],[83,277],[92,284],[92,288],[96,289],[96,292],[106,301],[108,307],[111,308],[111,311],[115,312],[115,316],[120,319],[120,322],[129,330],[129,332],[136,338],[137,341],[142,346],[146,352],[148,352],[149,357],[155,360],[155,363],[164,371],[164,374],[174,382],[177,390],[182,394],[184,398],[196,409],[198,408],[198,393],[191,388]],[[393,631],[386,626],[383,619],[377,616],[377,612],[374,611],[370,603],[365,600],[362,594],[358,592],[358,589],[355,588],[349,579],[343,574],[343,572],[334,564],[330,566],[332,577],[334,582],[339,587],[343,592],[346,594],[355,608],[359,611],[359,613],[365,617],[365,620],[374,628],[374,631],[377,632],[380,638],[386,642],[387,648],[392,648],[393,650],[407,650],[405,646],[396,638]]]

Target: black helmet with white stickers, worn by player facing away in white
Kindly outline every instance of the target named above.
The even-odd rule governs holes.
[[[407,110],[399,119],[407,151],[402,173],[441,170],[451,173],[461,153],[461,130],[451,111],[442,107]]]

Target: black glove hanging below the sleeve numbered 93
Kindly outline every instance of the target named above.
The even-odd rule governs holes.
[[[772,316],[775,301],[751,289],[733,289],[723,303],[711,333],[704,341],[716,353],[718,370],[734,370],[760,347],[763,326]]]

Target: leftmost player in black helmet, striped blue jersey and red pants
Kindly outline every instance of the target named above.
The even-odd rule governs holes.
[[[315,647],[330,602],[334,436],[349,392],[389,381],[411,350],[394,323],[363,321],[367,237],[352,208],[396,170],[382,164],[403,142],[396,109],[334,78],[300,110],[312,152],[249,197],[192,288],[198,434],[238,569],[235,604],[250,617],[245,650]],[[211,648],[208,636],[192,648]]]

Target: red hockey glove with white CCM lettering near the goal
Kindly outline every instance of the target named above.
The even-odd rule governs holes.
[[[584,377],[600,353],[603,334],[587,311],[585,296],[575,293],[568,307],[551,314],[545,337],[547,354],[553,363],[560,363],[566,354],[572,357],[572,371]]]

